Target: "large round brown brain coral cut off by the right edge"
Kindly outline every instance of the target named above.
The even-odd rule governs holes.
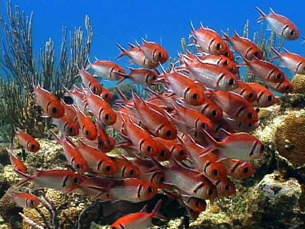
[[[293,166],[305,163],[305,116],[290,114],[276,131],[276,146],[279,154]]]

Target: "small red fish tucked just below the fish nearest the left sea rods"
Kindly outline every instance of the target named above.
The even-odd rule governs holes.
[[[77,136],[79,134],[79,127],[66,114],[62,118],[52,119],[52,123],[67,136]]]

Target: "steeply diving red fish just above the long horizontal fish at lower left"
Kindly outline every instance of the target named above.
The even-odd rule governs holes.
[[[76,149],[74,142],[67,136],[63,135],[59,138],[52,130],[50,130],[54,139],[63,147],[64,155],[67,161],[74,169],[82,173],[92,171],[85,158]]]

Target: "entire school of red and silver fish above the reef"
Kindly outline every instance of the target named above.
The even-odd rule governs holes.
[[[273,10],[270,15],[257,10],[261,14],[258,22],[266,21],[277,36],[291,41],[300,37],[288,18]],[[34,79],[36,104],[60,130],[60,134],[50,133],[72,169],[35,169],[30,174],[11,145],[11,163],[22,178],[18,185],[31,182],[35,187],[78,192],[101,201],[132,203],[147,201],[158,192],[171,193],[195,213],[205,210],[207,199],[234,195],[230,178],[252,177],[251,161],[265,150],[263,142],[249,133],[259,126],[259,108],[278,103],[273,92],[290,93],[292,84],[279,67],[264,60],[264,52],[251,40],[237,32],[234,37],[222,36],[202,24],[199,29],[191,25],[191,45],[198,53],[179,54],[179,62],[170,66],[170,71],[162,66],[169,60],[167,50],[142,39],[142,44],[129,43],[130,49],[117,44],[121,50],[117,59],[129,58],[140,67],[127,68],[130,73],[113,62],[99,60],[79,69],[81,87],[66,89],[73,104],[44,90]],[[290,71],[305,74],[302,56],[287,49],[283,49],[285,53],[271,49],[274,59]],[[244,63],[237,64],[235,55]],[[242,81],[242,65],[262,84]],[[146,87],[149,98],[135,92],[127,98],[117,89],[121,98],[114,101],[101,78],[118,83],[130,79]],[[150,87],[158,84],[164,88],[162,94]],[[106,128],[114,129],[123,140],[116,142]],[[25,150],[39,153],[39,142],[31,135],[16,130],[16,137]],[[108,156],[114,148],[125,149],[129,159]],[[14,192],[13,198],[19,207],[40,204],[31,193]],[[152,218],[167,220],[159,213],[162,205],[160,201],[152,212],[144,208],[119,218],[111,228],[146,228]]]

